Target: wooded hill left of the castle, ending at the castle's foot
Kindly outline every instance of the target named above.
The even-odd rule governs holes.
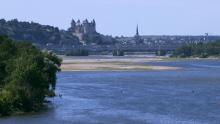
[[[0,20],[0,35],[18,41],[30,41],[40,48],[46,46],[62,46],[80,44],[77,37],[57,27],[41,25],[34,22],[20,22],[17,19],[6,21]]]

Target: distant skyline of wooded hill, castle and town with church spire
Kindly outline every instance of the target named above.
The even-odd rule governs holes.
[[[123,50],[127,52],[155,52],[158,50],[173,51],[183,44],[207,43],[220,40],[220,36],[205,33],[200,36],[178,35],[142,35],[139,28],[134,29],[134,36],[112,37],[96,30],[96,22],[72,20],[70,28],[60,30],[57,27],[41,25],[34,22],[20,22],[17,19],[0,20],[0,35],[32,42],[42,50],[65,54],[69,51],[83,49],[93,54]]]

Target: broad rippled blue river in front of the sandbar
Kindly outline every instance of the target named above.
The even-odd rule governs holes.
[[[45,112],[0,124],[219,124],[220,61],[143,63],[175,71],[61,72]]]

